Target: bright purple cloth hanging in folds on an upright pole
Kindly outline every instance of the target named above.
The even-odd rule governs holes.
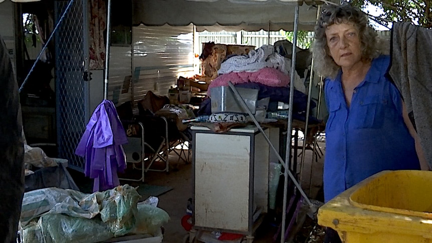
[[[122,147],[126,143],[126,133],[114,104],[103,100],[93,112],[75,150],[75,154],[85,158],[84,174],[94,179],[94,192],[120,185],[117,171],[126,168]]]

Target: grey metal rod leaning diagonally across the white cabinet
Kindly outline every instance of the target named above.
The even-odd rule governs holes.
[[[288,169],[288,167],[286,167],[286,163],[284,162],[284,160],[282,159],[282,157],[279,155],[278,151],[276,150],[275,146],[273,146],[272,142],[270,141],[269,137],[264,133],[263,128],[261,127],[261,125],[258,123],[257,119],[255,119],[254,114],[252,114],[251,110],[249,110],[248,105],[246,105],[246,102],[243,100],[242,96],[240,95],[239,91],[237,91],[236,87],[234,87],[233,83],[228,82],[228,85],[230,85],[230,88],[233,90],[234,92],[234,97],[236,97],[236,99],[240,102],[240,104],[242,105],[243,109],[245,109],[249,116],[251,117],[251,119],[254,121],[255,125],[257,126],[258,130],[260,130],[260,132],[263,134],[264,138],[266,139],[267,143],[270,145],[271,149],[273,150],[273,152],[276,154],[276,156],[278,157],[279,161],[282,163],[282,165],[285,168],[285,171],[288,172],[288,175],[290,176],[290,178],[293,180],[294,184],[299,188],[300,193],[302,194],[302,196],[305,198],[306,202],[309,204],[309,206],[313,206],[312,202],[308,199],[306,193],[302,190],[300,184],[297,182],[296,178],[294,177],[294,175],[291,173],[291,171]],[[285,172],[285,173],[287,173]]]

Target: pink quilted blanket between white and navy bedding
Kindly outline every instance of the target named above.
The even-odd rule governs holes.
[[[228,86],[228,82],[243,84],[248,82],[260,83],[272,87],[287,87],[290,84],[290,77],[274,68],[263,68],[257,72],[240,72],[222,74],[211,81],[208,86],[207,95],[210,96],[210,89],[213,87]]]

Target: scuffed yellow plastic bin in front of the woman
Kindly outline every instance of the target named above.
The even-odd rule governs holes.
[[[348,243],[432,242],[432,171],[382,171],[318,210]]]

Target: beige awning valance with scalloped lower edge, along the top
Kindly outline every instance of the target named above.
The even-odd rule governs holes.
[[[328,1],[325,1],[328,2]],[[339,1],[332,0],[334,3]],[[293,0],[133,0],[132,22],[147,26],[187,26],[197,31],[293,30],[299,5],[299,30],[312,31],[321,1]]]

